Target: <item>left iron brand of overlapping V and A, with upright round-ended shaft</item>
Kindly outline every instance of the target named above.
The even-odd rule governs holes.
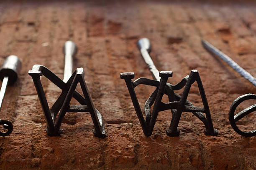
[[[99,138],[105,138],[104,120],[100,112],[92,103],[87,85],[84,81],[83,68],[77,68],[72,74],[72,57],[74,57],[77,52],[77,47],[74,42],[67,41],[63,47],[63,52],[65,56],[63,80],[43,65],[33,65],[32,69],[28,71],[28,75],[31,75],[33,79],[44,112],[44,117],[46,119],[46,133],[50,136],[59,136],[61,134],[62,129],[60,129],[60,127],[66,112],[90,112],[95,127],[95,129],[92,130],[93,134]],[[51,109],[49,108],[41,84],[40,77],[42,75],[62,90],[61,95],[54,105],[52,105]],[[75,90],[78,83],[81,85],[84,97]],[[69,105],[72,97],[74,97],[74,99],[81,105]]]

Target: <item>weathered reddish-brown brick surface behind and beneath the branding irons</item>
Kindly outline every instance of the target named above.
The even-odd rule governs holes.
[[[13,133],[0,138],[0,169],[256,169],[256,138],[238,135],[228,122],[233,100],[256,93],[256,87],[200,42],[208,40],[256,76],[255,9],[253,1],[1,1],[0,63],[17,55],[23,68],[18,82],[7,88],[0,114],[14,126]],[[120,72],[151,78],[136,47],[141,37],[151,40],[156,67],[173,71],[170,83],[199,70],[218,136],[205,136],[202,122],[189,112],[182,114],[180,136],[166,136],[170,111],[159,113],[151,137],[143,135],[119,78]],[[28,70],[41,64],[63,77],[66,40],[78,46],[74,68],[84,68],[93,102],[105,119],[105,139],[94,137],[89,113],[67,113],[61,136],[46,135]],[[61,91],[41,80],[52,105]],[[152,90],[136,89],[141,107]],[[188,99],[202,105],[196,85]],[[240,125],[255,129],[255,115]]]

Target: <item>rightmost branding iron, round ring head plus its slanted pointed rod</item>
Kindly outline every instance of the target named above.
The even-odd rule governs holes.
[[[247,80],[249,80],[249,82],[251,82],[253,85],[256,86],[256,78],[253,77],[250,73],[248,73],[246,70],[244,70],[242,67],[240,67],[234,60],[232,60],[230,57],[228,57],[228,55],[225,55],[223,52],[221,52],[220,50],[218,50],[216,47],[214,47],[213,45],[211,45],[209,42],[202,40],[202,45],[208,50],[210,51],[212,54],[217,55],[218,57],[220,57],[222,60],[224,60],[225,62],[228,63],[228,65],[230,65],[234,70],[236,70],[240,75],[242,75],[243,77],[245,77]],[[228,120],[230,122],[230,125],[232,126],[232,128],[236,131],[236,133],[238,133],[239,135],[243,135],[243,136],[255,136],[256,135],[256,130],[252,130],[252,131],[242,131],[240,130],[237,125],[236,122],[238,120],[240,120],[241,118],[245,117],[246,115],[256,111],[256,104],[255,105],[251,105],[249,107],[247,107],[246,109],[242,110],[241,112],[238,112],[235,115],[235,111],[236,108],[238,107],[238,105],[241,104],[241,102],[245,101],[245,100],[256,100],[256,95],[255,94],[246,94],[246,95],[241,95],[240,97],[238,97],[230,106],[230,110],[228,113]]]

